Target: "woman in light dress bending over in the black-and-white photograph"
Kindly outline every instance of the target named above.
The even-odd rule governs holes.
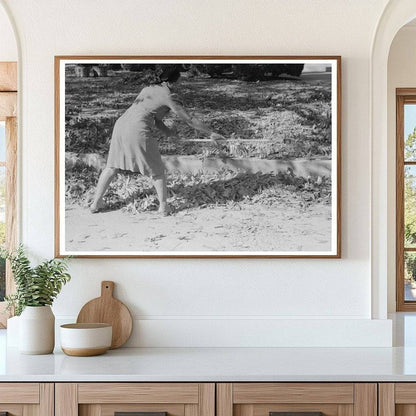
[[[172,111],[181,120],[209,135],[211,140],[222,139],[223,136],[213,132],[201,121],[192,118],[183,108],[174,93],[174,83],[179,79],[179,68],[175,65],[167,67],[162,75],[161,83],[142,89],[134,103],[116,121],[111,137],[107,165],[98,179],[91,212],[96,213],[104,208],[103,196],[118,170],[129,170],[153,179],[159,212],[169,213],[167,206],[167,188],[165,166],[160,156],[156,137],[152,134],[154,127],[167,137],[177,137],[175,130],[163,123],[163,118]]]

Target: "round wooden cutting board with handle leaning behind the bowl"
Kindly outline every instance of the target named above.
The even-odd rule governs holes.
[[[78,314],[77,323],[106,323],[113,326],[111,349],[119,348],[129,339],[133,319],[124,303],[113,297],[114,282],[101,282],[101,296],[86,303]]]

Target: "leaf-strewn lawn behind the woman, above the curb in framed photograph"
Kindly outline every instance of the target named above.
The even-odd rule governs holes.
[[[144,72],[109,71],[104,78],[66,79],[67,152],[106,156],[114,123],[148,85]],[[193,116],[246,146],[250,157],[284,159],[331,156],[331,85],[325,81],[242,80],[184,77],[177,86]],[[201,155],[206,143],[169,114],[180,141],[152,134],[164,155]]]

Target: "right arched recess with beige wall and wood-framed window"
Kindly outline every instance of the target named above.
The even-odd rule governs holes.
[[[412,20],[394,37],[387,68],[389,312],[416,311],[415,49],[416,20]]]

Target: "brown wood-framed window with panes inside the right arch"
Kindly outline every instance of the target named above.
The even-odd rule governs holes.
[[[416,311],[416,88],[397,89],[397,310]]]

